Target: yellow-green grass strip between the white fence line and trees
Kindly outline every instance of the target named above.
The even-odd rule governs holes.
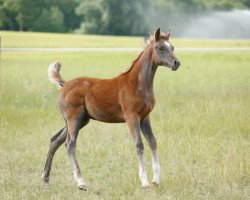
[[[174,35],[174,33],[173,33]],[[133,47],[140,48],[143,37],[75,35],[0,31],[2,47]],[[250,40],[172,39],[176,47],[250,47]]]

